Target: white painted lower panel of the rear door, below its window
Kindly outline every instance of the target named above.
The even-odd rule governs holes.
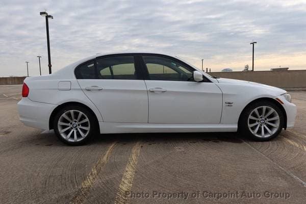
[[[78,80],[104,122],[148,122],[148,94],[143,80]],[[103,90],[86,90],[86,87]]]

